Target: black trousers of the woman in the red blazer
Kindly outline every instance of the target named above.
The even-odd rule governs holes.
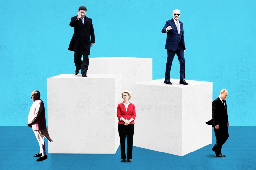
[[[125,126],[124,124],[118,124],[118,133],[120,137],[121,145],[121,159],[126,159],[125,156],[125,138],[127,137],[127,159],[132,159],[132,146],[133,146],[133,134],[134,124]]]

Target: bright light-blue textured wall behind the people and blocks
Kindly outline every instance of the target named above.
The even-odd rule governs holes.
[[[161,29],[180,9],[186,80],[213,82],[214,99],[226,88],[230,125],[256,126],[254,0],[0,1],[0,126],[25,126],[31,91],[46,104],[46,78],[74,73],[69,22],[81,5],[95,30],[89,57],[153,58],[153,79],[165,73]],[[177,57],[171,78],[179,78]]]

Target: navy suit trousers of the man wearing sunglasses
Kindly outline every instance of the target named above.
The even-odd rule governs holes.
[[[184,50],[179,42],[178,48],[176,51],[167,50],[167,62],[166,62],[166,69],[165,69],[165,80],[170,81],[170,72],[172,67],[172,61],[177,54],[178,60],[180,62],[180,80],[185,78],[185,57],[184,57]]]

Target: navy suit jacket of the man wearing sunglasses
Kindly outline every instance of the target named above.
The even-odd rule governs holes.
[[[176,23],[174,23],[173,18],[169,21],[166,21],[164,28],[162,29],[162,33],[167,33],[165,49],[176,51],[178,48],[179,40],[181,41],[181,46],[185,50],[185,41],[184,41],[184,30],[183,23],[180,22],[180,34],[178,34],[178,30],[176,27]],[[166,28],[171,26],[172,29],[166,32]]]

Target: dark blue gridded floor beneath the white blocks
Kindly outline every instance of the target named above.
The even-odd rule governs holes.
[[[38,153],[39,145],[32,129],[0,126],[0,170],[256,169],[256,127],[228,129],[229,138],[221,151],[226,155],[225,158],[216,158],[211,150],[216,140],[213,132],[213,144],[182,157],[133,147],[133,162],[121,163],[120,147],[116,154],[48,154],[48,142],[46,142],[48,159],[36,162],[38,157],[33,155]]]

